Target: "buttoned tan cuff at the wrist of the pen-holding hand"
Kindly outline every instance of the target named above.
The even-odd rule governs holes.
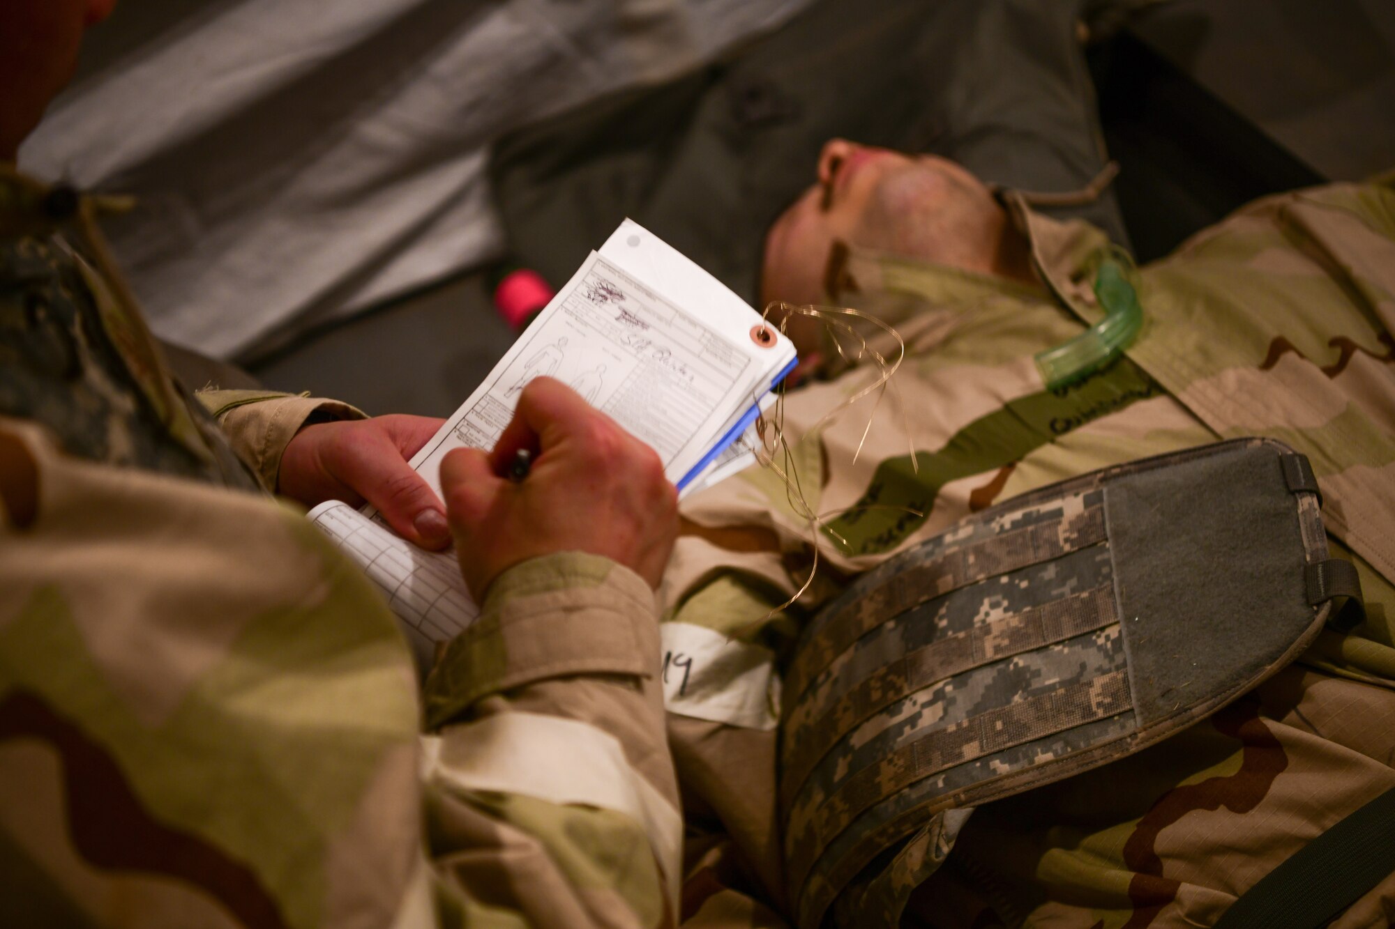
[[[491,693],[579,674],[658,674],[654,591],[600,555],[533,558],[495,579],[480,618],[438,658],[425,683],[427,728]]]

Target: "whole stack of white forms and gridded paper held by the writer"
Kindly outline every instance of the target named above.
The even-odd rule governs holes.
[[[492,448],[536,377],[571,385],[664,462],[688,494],[752,460],[753,423],[795,350],[721,282],[626,219],[533,319],[490,375],[412,459],[441,492],[441,459]],[[453,552],[398,536],[371,508],[329,501],[310,519],[357,561],[430,665],[435,643],[478,615]]]

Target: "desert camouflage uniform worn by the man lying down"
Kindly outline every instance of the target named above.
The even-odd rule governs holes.
[[[684,508],[660,591],[665,644],[714,629],[738,636],[730,649],[746,667],[728,681],[693,674],[681,700],[670,690],[689,822],[706,829],[689,845],[692,925],[778,925],[776,911],[788,912],[774,713],[752,723],[727,707],[742,706],[735,690],[753,699],[760,688],[778,706],[777,671],[799,624],[850,576],[1020,492],[1222,438],[1268,435],[1309,456],[1332,552],[1360,573],[1366,622],[1322,632],[1296,664],[1154,748],[947,820],[957,844],[908,921],[1211,925],[1395,785],[1395,191],[1274,197],[1196,236],[1134,275],[1147,319],[1126,357],[1056,391],[1034,354],[1101,318],[1091,285],[1108,246],[1089,226],[1048,220],[1013,194],[1006,202],[1031,236],[1042,286],[857,250],[830,265],[833,303],[894,321],[908,357],[861,455],[870,399],[809,430],[869,372],[785,402],[785,431],[802,438],[799,485],[831,530],[795,608],[762,622],[810,566],[809,527],[781,480],[753,469]],[[788,735],[799,720],[780,725]],[[1335,925],[1392,918],[1395,876]]]

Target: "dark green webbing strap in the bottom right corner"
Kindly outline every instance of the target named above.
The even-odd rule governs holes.
[[[1230,904],[1215,929],[1315,929],[1395,873],[1395,788],[1327,830]]]

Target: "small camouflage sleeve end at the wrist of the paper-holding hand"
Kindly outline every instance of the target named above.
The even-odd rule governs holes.
[[[268,490],[276,488],[282,452],[312,416],[321,420],[361,420],[365,416],[347,403],[304,393],[199,391],[197,396]]]

